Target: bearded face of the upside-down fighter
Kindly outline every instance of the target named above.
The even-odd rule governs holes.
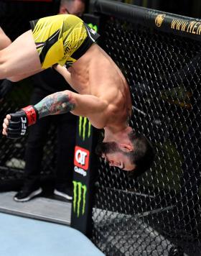
[[[95,147],[95,152],[110,166],[116,166],[122,170],[134,170],[135,168],[128,155],[118,147],[116,142],[101,142]]]

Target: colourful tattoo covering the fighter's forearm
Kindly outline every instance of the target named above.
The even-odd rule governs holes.
[[[75,109],[75,103],[66,92],[57,92],[39,101],[34,106],[39,114],[39,118],[52,114],[65,114]]]

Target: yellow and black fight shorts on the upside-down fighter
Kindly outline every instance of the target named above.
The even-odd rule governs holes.
[[[82,19],[58,14],[30,22],[42,68],[59,63],[70,67],[100,35]]]

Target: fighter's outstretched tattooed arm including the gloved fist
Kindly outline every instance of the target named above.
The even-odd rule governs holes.
[[[37,119],[69,111],[78,116],[87,116],[93,126],[103,128],[108,118],[107,109],[107,102],[96,96],[61,91],[50,94],[34,106],[27,106],[20,111],[7,114],[2,134],[16,139],[24,136],[27,127],[35,124]]]

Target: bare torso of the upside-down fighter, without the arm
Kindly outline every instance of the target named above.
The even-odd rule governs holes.
[[[107,116],[93,116],[90,122],[101,127],[123,126],[131,116],[131,95],[121,70],[101,47],[93,44],[72,68],[72,87],[80,94],[91,94],[108,102]],[[102,117],[102,118],[101,118]]]

